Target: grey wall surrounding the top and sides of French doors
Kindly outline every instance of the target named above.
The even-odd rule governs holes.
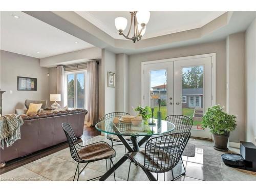
[[[226,105],[226,41],[166,49],[129,56],[129,111],[141,104],[141,62],[216,53],[216,102]]]

